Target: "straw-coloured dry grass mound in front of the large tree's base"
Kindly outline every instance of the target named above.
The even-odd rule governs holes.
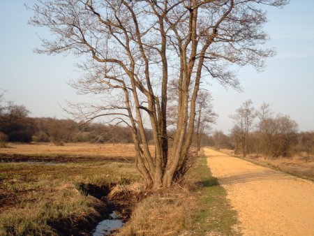
[[[193,195],[179,186],[152,193],[137,205],[117,235],[178,235],[191,222],[186,212],[194,202]]]

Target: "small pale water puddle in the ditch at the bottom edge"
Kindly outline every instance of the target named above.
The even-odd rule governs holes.
[[[112,212],[110,218],[100,221],[96,228],[91,231],[91,234],[93,236],[110,235],[112,230],[121,228],[123,225],[124,223],[119,219],[119,216],[115,212]]]

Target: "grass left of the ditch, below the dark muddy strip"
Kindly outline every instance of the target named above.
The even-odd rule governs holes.
[[[89,161],[57,165],[0,163],[0,235],[57,235],[54,221],[95,214],[100,200],[75,184],[110,185],[140,179],[133,163]]]

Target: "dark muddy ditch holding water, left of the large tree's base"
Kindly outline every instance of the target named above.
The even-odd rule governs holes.
[[[130,219],[135,204],[151,193],[139,183],[110,186],[77,183],[75,188],[83,195],[93,196],[98,202],[89,216],[50,222],[58,235],[100,235],[99,232],[111,235]]]

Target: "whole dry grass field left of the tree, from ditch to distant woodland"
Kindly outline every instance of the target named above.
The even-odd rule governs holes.
[[[100,198],[140,180],[132,145],[7,146],[0,149],[0,235],[89,233],[112,208]]]

